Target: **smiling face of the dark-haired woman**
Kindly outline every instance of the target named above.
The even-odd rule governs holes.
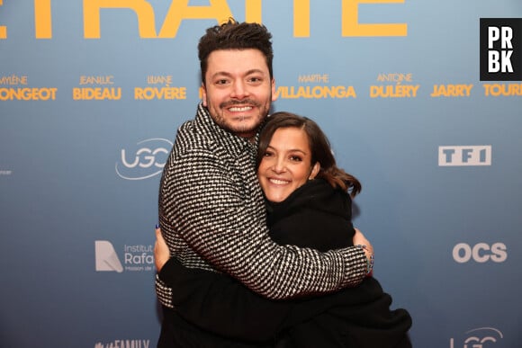
[[[320,164],[311,165],[311,148],[306,132],[280,128],[266,147],[257,178],[268,201],[284,201],[293,191],[318,174]]]

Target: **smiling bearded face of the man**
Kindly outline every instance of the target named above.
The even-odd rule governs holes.
[[[221,128],[252,138],[275,101],[275,81],[258,49],[220,49],[208,58],[203,105]]]

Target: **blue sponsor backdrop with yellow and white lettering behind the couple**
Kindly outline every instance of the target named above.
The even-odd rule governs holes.
[[[159,176],[229,17],[363,183],[414,346],[519,347],[520,0],[0,0],[0,346],[156,345]]]

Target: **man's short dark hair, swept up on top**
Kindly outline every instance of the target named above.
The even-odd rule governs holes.
[[[208,68],[208,58],[214,50],[218,49],[258,49],[266,58],[266,65],[273,77],[272,60],[272,34],[266,26],[259,23],[236,22],[230,18],[228,22],[215,25],[207,29],[198,44],[198,57],[202,69],[202,82],[205,83],[205,75]]]

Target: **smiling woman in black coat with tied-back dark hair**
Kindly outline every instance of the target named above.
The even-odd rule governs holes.
[[[270,237],[277,244],[320,251],[353,245],[350,194],[360,192],[361,184],[338,168],[329,141],[315,122],[275,113],[261,132],[257,159]],[[213,334],[252,346],[411,346],[410,315],[403,309],[390,310],[391,297],[373,277],[329,295],[272,301],[215,272],[179,264],[184,272],[177,270],[176,277],[163,274],[160,270],[169,255],[158,230],[157,237],[160,278],[192,298],[173,299],[176,309]],[[369,273],[372,266],[369,263]],[[207,275],[203,278],[202,273]]]

